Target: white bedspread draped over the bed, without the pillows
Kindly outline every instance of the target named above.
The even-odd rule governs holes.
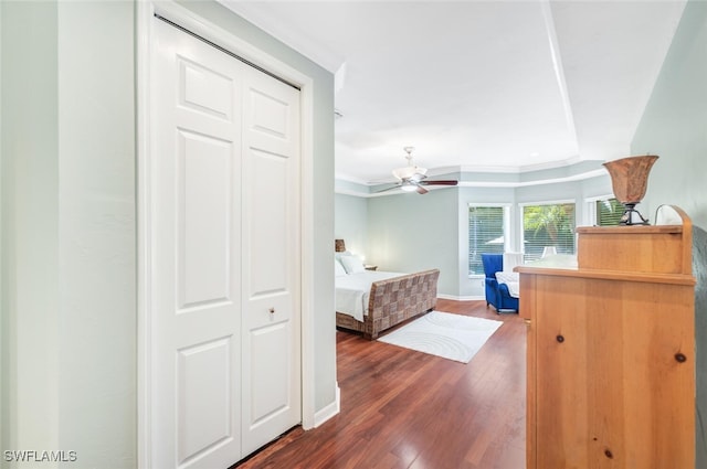
[[[368,299],[371,292],[371,284],[403,275],[408,274],[363,270],[356,274],[337,276],[335,278],[337,312],[352,316],[357,321],[363,322],[363,315],[368,313]]]

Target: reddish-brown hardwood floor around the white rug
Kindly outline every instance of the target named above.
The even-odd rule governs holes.
[[[337,331],[340,414],[236,467],[525,468],[525,322],[485,301],[436,309],[504,324],[468,364]]]

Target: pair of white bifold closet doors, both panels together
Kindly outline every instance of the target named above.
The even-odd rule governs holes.
[[[298,93],[152,21],[150,463],[229,467],[300,420]]]

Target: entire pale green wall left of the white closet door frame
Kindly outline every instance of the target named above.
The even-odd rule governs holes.
[[[134,6],[0,10],[2,448],[134,467]]]

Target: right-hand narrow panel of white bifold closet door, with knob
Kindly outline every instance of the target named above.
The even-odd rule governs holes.
[[[250,68],[243,95],[243,449],[300,422],[299,92]]]

